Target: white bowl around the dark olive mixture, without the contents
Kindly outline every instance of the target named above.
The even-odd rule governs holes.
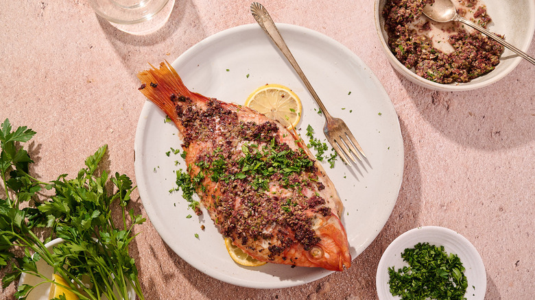
[[[482,77],[472,79],[471,82],[462,84],[438,84],[416,75],[413,71],[406,68],[388,47],[388,34],[385,32],[385,21],[383,18],[383,7],[386,1],[390,0],[375,0],[374,14],[375,27],[379,36],[379,41],[383,46],[385,55],[394,66],[394,69],[403,74],[407,79],[415,84],[431,88],[433,90],[442,91],[460,91],[473,90],[475,88],[482,88],[488,86],[499,79],[508,75],[518,65],[523,58],[516,55],[509,49],[505,49],[501,55],[501,62],[496,66],[495,70],[490,71]],[[486,4],[488,15],[492,18],[492,23],[487,27],[491,32],[503,34],[506,40],[514,45],[516,48],[527,52],[530,47],[534,32],[535,32],[535,1],[533,0],[480,0]],[[527,53],[534,56],[535,53]],[[525,62],[529,64],[529,62]]]

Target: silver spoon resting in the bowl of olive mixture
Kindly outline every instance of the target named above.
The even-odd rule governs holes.
[[[473,29],[479,30],[479,32],[484,33],[489,38],[492,38],[493,40],[499,42],[500,45],[503,47],[507,47],[514,53],[520,55],[521,57],[525,58],[528,62],[531,62],[532,64],[535,64],[535,59],[532,58],[530,55],[527,55],[520,49],[514,47],[510,43],[503,40],[503,38],[500,38],[499,36],[493,34],[492,32],[489,32],[487,29],[484,29],[483,27],[476,25],[475,23],[472,23],[471,21],[466,20],[466,18],[463,18],[459,14],[457,14],[457,10],[455,10],[455,5],[451,2],[451,0],[435,0],[435,3],[433,4],[426,4],[423,8],[423,13],[428,16],[431,20],[437,21],[437,22],[449,22],[449,21],[458,21],[461,23],[464,23]]]

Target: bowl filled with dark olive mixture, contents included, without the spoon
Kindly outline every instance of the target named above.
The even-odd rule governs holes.
[[[379,40],[396,71],[433,90],[471,90],[497,82],[521,62],[494,40],[458,22],[423,15],[434,0],[376,0]],[[530,0],[453,0],[457,13],[526,51],[535,31]]]

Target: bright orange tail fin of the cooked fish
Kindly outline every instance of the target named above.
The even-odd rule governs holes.
[[[169,62],[161,62],[160,68],[152,66],[150,70],[141,71],[137,74],[141,80],[139,90],[150,101],[160,108],[176,125],[178,123],[177,105],[202,101],[206,103],[207,97],[196,92],[191,92],[182,82],[182,79],[176,73],[175,69]]]

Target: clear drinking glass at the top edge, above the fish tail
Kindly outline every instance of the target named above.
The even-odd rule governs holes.
[[[130,34],[150,34],[168,20],[175,0],[89,0],[95,12]]]

